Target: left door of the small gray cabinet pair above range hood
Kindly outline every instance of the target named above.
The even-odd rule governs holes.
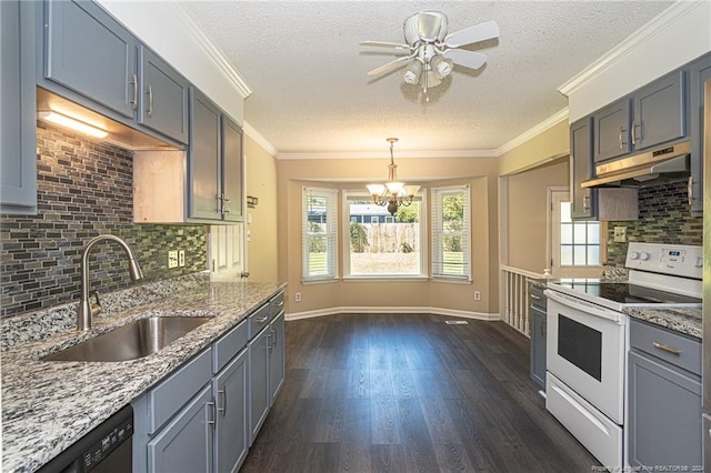
[[[593,158],[594,162],[629,153],[632,150],[629,139],[630,101],[618,100],[593,114]]]

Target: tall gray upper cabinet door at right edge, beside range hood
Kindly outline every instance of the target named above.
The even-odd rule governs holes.
[[[691,64],[691,212],[703,212],[703,84],[711,80],[711,53],[707,53]],[[705,124],[708,128],[709,125]],[[711,140],[711,130],[708,131]],[[707,157],[711,159],[711,157]]]

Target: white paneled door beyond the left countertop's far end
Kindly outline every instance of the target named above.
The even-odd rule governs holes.
[[[244,225],[211,225],[208,261],[212,281],[238,281],[247,272]]]

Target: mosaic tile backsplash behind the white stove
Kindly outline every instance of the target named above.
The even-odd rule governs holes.
[[[639,202],[640,220],[609,223],[609,265],[624,266],[627,256],[628,244],[613,241],[614,227],[627,227],[629,241],[702,244],[703,218],[691,217],[685,180],[641,188]]]

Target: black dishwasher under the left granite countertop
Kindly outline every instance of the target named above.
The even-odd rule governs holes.
[[[129,404],[42,466],[40,473],[132,471],[133,407]]]

